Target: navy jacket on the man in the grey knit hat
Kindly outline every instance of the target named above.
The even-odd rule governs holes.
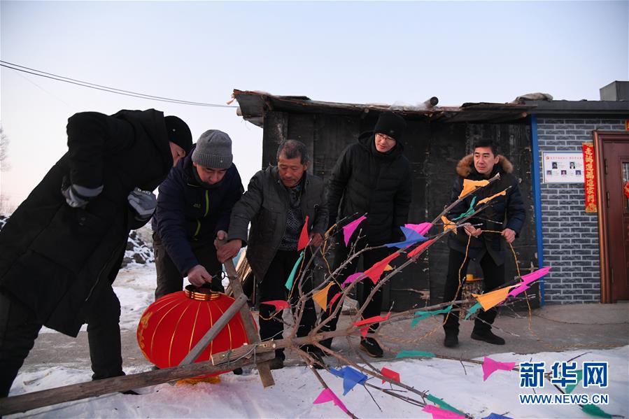
[[[168,255],[182,276],[199,264],[190,242],[211,242],[216,232],[229,229],[232,207],[244,192],[236,166],[227,169],[215,185],[197,180],[192,150],[172,169],[160,185],[153,232],[164,243]]]

